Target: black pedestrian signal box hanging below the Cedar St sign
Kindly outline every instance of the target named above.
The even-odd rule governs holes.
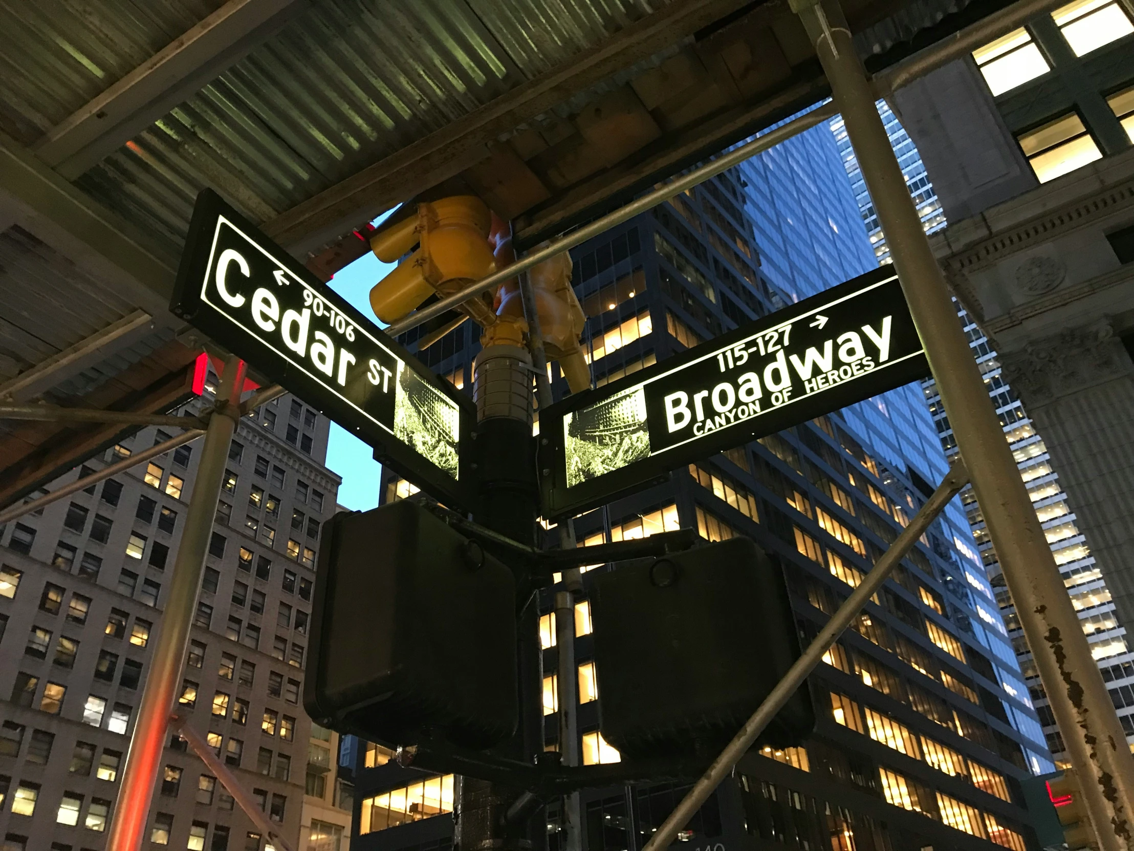
[[[407,500],[323,526],[304,707],[391,743],[486,748],[517,723],[515,587],[480,545]]]

